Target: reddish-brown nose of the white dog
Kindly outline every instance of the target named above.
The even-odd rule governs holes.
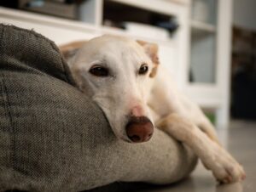
[[[131,116],[126,125],[126,134],[135,143],[148,141],[153,132],[154,126],[146,116]]]

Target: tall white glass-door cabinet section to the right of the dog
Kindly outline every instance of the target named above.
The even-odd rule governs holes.
[[[193,18],[196,1],[206,3],[206,20]],[[216,112],[216,124],[221,128],[230,121],[231,8],[232,0],[191,0],[190,78],[188,75],[184,90],[204,108]]]

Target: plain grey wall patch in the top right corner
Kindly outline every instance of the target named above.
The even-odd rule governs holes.
[[[222,0],[223,1],[223,0]],[[256,30],[256,1],[234,0],[233,24]]]

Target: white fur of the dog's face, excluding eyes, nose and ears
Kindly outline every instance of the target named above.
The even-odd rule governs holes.
[[[152,80],[137,75],[143,63],[147,63],[149,69],[153,67],[137,42],[112,36],[97,37],[85,43],[71,62],[79,87],[102,108],[113,133],[126,141],[129,138],[125,125],[134,107],[140,106],[143,115],[152,120],[147,106],[148,84]],[[96,64],[107,66],[111,75],[92,76],[88,71]]]

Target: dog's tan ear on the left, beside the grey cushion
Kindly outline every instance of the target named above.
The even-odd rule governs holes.
[[[87,41],[69,42],[59,46],[61,54],[68,61],[73,58],[79,48],[81,48]]]

